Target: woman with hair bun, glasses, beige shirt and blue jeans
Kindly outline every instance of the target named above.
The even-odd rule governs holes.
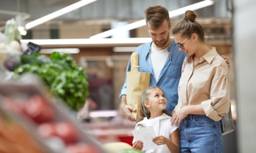
[[[229,69],[215,47],[205,43],[204,30],[195,21],[196,16],[188,10],[172,29],[176,45],[187,58],[171,124],[180,126],[181,152],[222,152],[219,120],[229,112]]]

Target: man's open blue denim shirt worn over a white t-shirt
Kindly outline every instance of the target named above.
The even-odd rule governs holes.
[[[169,110],[169,114],[171,114],[172,110],[178,103],[177,89],[182,72],[182,63],[186,54],[179,51],[179,47],[175,45],[175,41],[173,40],[170,46],[167,48],[169,57],[166,60],[165,66],[163,66],[163,69],[161,70],[158,81],[155,81],[155,76],[151,65],[151,58],[149,55],[151,44],[152,42],[148,42],[138,46],[133,52],[138,52],[139,65],[141,66],[140,72],[151,73],[150,86],[160,87],[165,92],[165,96],[168,101],[166,110]],[[130,60],[126,69],[126,72],[128,71],[130,71]],[[126,89],[127,84],[125,81],[124,86],[119,93],[120,99],[122,95],[126,95]]]

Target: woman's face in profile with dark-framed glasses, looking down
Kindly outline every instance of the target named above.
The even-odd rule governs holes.
[[[174,35],[176,45],[179,46],[179,51],[185,52],[188,56],[194,54],[194,46],[192,42],[192,36],[181,36],[180,34]]]

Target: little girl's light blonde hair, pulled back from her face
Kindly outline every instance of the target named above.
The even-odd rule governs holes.
[[[160,87],[152,86],[152,87],[146,88],[143,91],[143,93],[141,94],[141,108],[142,108],[142,112],[140,112],[140,114],[139,114],[141,118],[144,118],[144,117],[146,117],[148,119],[150,118],[151,113],[149,112],[148,108],[144,106],[144,101],[149,101],[149,95],[152,93],[153,89],[160,89],[160,90],[162,90]],[[163,93],[165,93],[165,92],[163,91]],[[168,111],[163,110],[163,112],[168,115]]]

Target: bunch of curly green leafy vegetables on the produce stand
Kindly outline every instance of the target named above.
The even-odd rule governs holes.
[[[67,53],[54,52],[50,61],[42,61],[42,58],[38,58],[40,56],[42,55],[39,53],[22,55],[22,64],[14,70],[15,75],[34,73],[43,79],[52,94],[62,98],[74,110],[84,106],[89,95],[88,76],[84,69],[78,67],[72,56]]]

